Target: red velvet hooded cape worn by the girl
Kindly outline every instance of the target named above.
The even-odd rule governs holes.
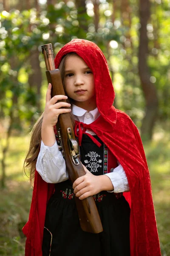
[[[68,52],[76,52],[94,73],[96,104],[101,115],[88,127],[108,146],[127,175],[131,195],[130,255],[160,256],[150,175],[138,129],[127,114],[112,106],[115,93],[99,47],[87,40],[72,40],[58,52],[56,68]],[[30,215],[23,227],[26,256],[42,256],[45,209],[53,191],[54,184],[46,183],[36,172]]]

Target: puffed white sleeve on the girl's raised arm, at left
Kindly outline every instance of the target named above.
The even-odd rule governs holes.
[[[68,180],[65,160],[58,149],[57,142],[48,147],[41,141],[36,169],[47,183],[59,183]]]

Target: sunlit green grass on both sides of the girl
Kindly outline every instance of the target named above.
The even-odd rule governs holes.
[[[24,256],[25,238],[21,231],[28,219],[32,189],[23,175],[23,160],[29,137],[11,137],[7,155],[6,189],[0,191],[0,255]],[[167,136],[146,143],[153,201],[162,256],[170,255],[170,140]],[[1,156],[0,156],[1,157]]]

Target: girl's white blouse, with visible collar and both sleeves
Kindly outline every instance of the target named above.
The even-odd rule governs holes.
[[[75,120],[85,124],[91,124],[100,115],[98,108],[88,112],[76,105],[73,105],[72,113],[74,114]],[[93,131],[87,130],[86,132],[95,135]],[[59,183],[68,180],[65,160],[58,149],[57,142],[53,146],[48,147],[41,141],[36,169],[42,179],[47,183]],[[127,176],[121,164],[118,162],[118,166],[115,169],[111,169],[111,171],[105,174],[111,179],[114,186],[114,190],[109,192],[120,193],[129,191]]]

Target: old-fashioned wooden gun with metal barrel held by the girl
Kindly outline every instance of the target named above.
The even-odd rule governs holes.
[[[52,44],[44,44],[41,48],[45,58],[47,80],[48,83],[52,84],[51,97],[65,95],[59,69],[55,69]],[[66,100],[62,101],[66,102]],[[59,150],[65,158],[71,182],[74,183],[78,177],[85,175],[85,170],[79,160],[79,145],[75,139],[74,127],[69,113],[59,115],[56,128]],[[80,200],[75,196],[75,201],[82,230],[90,233],[102,232],[102,223],[94,198],[89,196]]]

